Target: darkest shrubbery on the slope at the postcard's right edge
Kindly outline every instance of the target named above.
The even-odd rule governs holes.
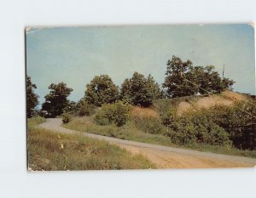
[[[240,102],[232,107],[216,106],[206,110],[212,122],[229,133],[234,146],[243,150],[256,150],[256,103]]]

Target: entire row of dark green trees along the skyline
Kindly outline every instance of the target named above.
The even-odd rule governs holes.
[[[49,85],[49,93],[44,96],[44,103],[40,115],[45,117],[60,116],[64,111],[77,111],[81,114],[90,114],[93,106],[113,104],[119,100],[131,105],[148,107],[154,99],[172,99],[192,94],[220,93],[224,88],[232,88],[235,83],[229,78],[221,78],[214,66],[194,66],[188,59],[183,61],[177,56],[168,59],[165,82],[160,86],[150,74],[144,76],[137,71],[131,78],[126,78],[119,88],[108,75],[95,76],[86,85],[84,97],[78,103],[67,97],[73,88],[60,82]],[[31,117],[38,113],[37,88],[31,77],[26,76],[26,115]],[[83,108],[85,108],[83,110]],[[90,110],[91,109],[91,110]]]

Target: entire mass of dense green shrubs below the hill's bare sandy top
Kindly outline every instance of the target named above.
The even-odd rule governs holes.
[[[177,116],[171,108],[162,116],[169,128],[166,135],[177,144],[233,144],[238,149],[256,149],[256,111],[252,103],[216,105],[210,109],[190,110]]]

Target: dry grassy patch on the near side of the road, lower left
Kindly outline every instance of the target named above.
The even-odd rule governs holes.
[[[55,133],[36,127],[41,118],[28,119],[27,151],[30,170],[119,170],[155,168],[141,155],[105,141]]]

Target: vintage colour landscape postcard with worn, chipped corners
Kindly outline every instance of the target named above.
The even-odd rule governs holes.
[[[26,28],[29,171],[254,167],[254,28]]]

